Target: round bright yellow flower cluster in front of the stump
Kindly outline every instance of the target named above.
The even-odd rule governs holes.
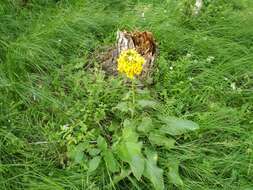
[[[136,50],[128,49],[122,51],[118,58],[118,71],[125,73],[128,78],[133,79],[135,75],[141,74],[144,63],[144,57]]]

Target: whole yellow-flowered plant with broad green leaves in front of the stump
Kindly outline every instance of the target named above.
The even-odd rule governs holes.
[[[165,174],[158,166],[156,148],[170,150],[175,146],[173,137],[199,127],[189,120],[162,115],[149,90],[137,88],[134,76],[141,73],[143,62],[135,50],[126,50],[119,57],[118,70],[131,79],[132,85],[112,108],[111,121],[105,119],[101,124],[105,116],[101,108],[103,111],[94,113],[100,119],[92,127],[81,122],[63,126],[60,134],[67,147],[68,167],[77,165],[90,174],[106,170],[110,177],[108,185],[112,186],[129,176],[137,180],[146,178],[160,190],[164,189]],[[169,172],[172,183],[182,183],[177,168]]]

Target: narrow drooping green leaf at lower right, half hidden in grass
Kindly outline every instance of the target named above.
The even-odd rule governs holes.
[[[171,161],[169,165],[168,179],[169,182],[178,186],[183,185],[183,180],[178,173],[179,162],[177,160]]]

